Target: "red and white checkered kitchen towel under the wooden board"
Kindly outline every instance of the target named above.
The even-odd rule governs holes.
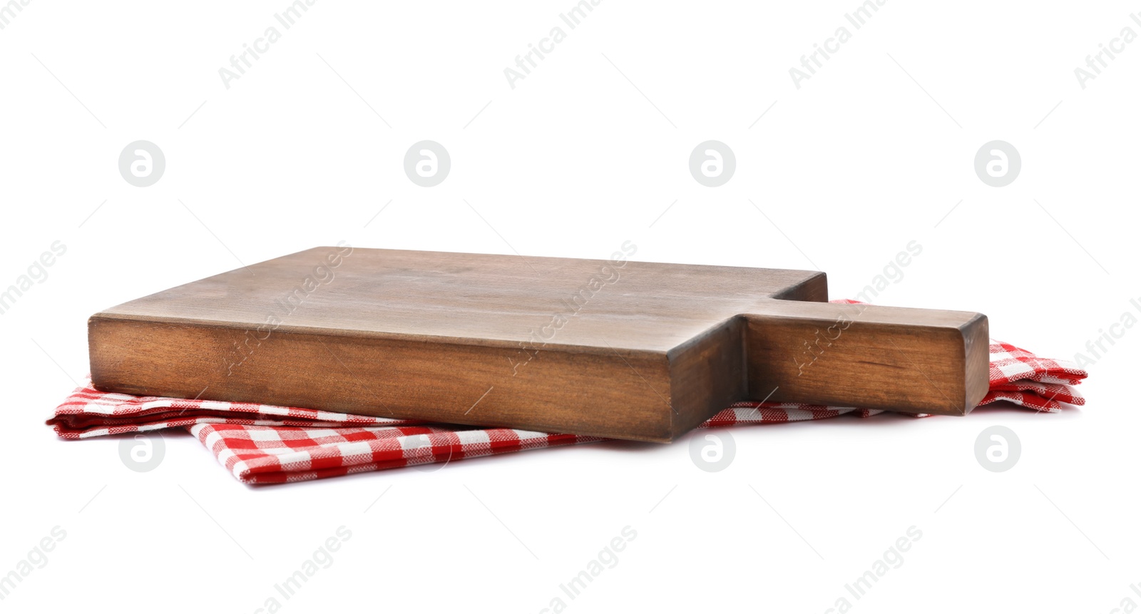
[[[1068,361],[1038,358],[1025,349],[992,341],[990,391],[980,405],[1009,401],[1057,413],[1062,403],[1085,403],[1071,388],[1085,377],[1085,371]],[[737,403],[699,428],[820,420],[844,413],[867,418],[882,412],[796,403]],[[602,441],[252,403],[100,393],[90,383],[76,388],[56,409],[48,425],[65,439],[186,428],[213,452],[218,462],[246,484],[300,482]]]

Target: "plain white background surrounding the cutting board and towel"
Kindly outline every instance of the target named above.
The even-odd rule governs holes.
[[[582,258],[630,240],[639,260],[819,268],[833,298],[914,240],[877,304],[984,312],[993,337],[1073,358],[1141,297],[1141,42],[1085,89],[1074,74],[1141,33],[1141,6],[892,0],[855,30],[856,0],[606,0],[569,30],[570,0],[318,1],[227,89],[218,70],[286,6],[34,0],[0,30],[0,286],[67,247],[0,316],[0,574],[67,534],[5,609],[252,612],[341,525],[351,539],[284,611],[1141,603],[1136,329],[1090,367],[1081,410],[734,428],[715,474],[686,437],[251,488],[180,431],[136,474],[119,441],[42,425],[87,373],[90,314],[340,240]],[[566,40],[512,89],[503,70],[557,25]],[[842,25],[851,40],[794,87]],[[138,139],[167,157],[146,188],[116,168]],[[403,171],[422,139],[451,152],[437,187]],[[687,168],[707,139],[737,159],[717,188]],[[973,171],[993,139],[1021,153],[1008,187]],[[1021,441],[1006,472],[974,458],[992,425]],[[628,525],[620,563],[563,595]],[[904,564],[848,595],[911,526]]]

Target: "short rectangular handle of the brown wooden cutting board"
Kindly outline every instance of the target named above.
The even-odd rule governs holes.
[[[965,415],[989,388],[987,317],[777,300],[745,315],[748,395]]]

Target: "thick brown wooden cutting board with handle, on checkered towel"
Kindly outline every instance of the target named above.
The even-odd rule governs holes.
[[[670,442],[738,401],[962,415],[982,314],[824,273],[314,248],[91,316],[99,390]]]

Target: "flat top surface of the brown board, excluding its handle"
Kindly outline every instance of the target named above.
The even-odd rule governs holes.
[[[625,257],[313,248],[131,300],[94,317],[667,352],[803,284],[824,286],[819,272]]]

